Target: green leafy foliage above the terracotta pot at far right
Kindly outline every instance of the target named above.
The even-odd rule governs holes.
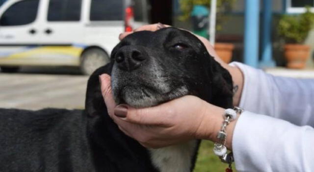
[[[314,24],[314,13],[307,7],[305,13],[295,15],[283,15],[279,20],[278,34],[285,43],[304,43]]]

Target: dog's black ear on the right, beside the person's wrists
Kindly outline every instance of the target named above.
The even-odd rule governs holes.
[[[212,99],[213,105],[222,108],[233,107],[233,81],[227,69],[210,57],[209,76],[212,79]]]

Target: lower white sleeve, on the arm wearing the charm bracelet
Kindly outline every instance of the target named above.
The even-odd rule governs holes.
[[[244,111],[233,135],[238,172],[314,172],[314,129]]]

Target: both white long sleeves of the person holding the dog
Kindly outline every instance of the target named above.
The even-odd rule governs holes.
[[[238,172],[314,172],[314,79],[275,77],[232,63],[244,75],[233,135]]]

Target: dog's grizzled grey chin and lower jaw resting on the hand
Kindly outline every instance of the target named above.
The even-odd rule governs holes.
[[[126,87],[119,91],[113,92],[117,105],[127,104],[134,108],[147,108],[183,97],[188,94],[185,86],[171,90],[168,93],[160,94],[155,90],[143,89],[140,87]]]

